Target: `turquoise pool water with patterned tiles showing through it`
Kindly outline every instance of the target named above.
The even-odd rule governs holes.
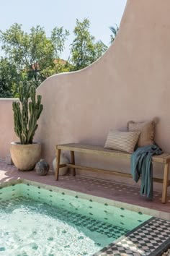
[[[0,189],[0,255],[92,255],[151,216],[30,184]]]

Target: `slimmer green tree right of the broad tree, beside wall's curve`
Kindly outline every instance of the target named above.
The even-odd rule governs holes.
[[[107,50],[107,46],[99,42],[89,32],[90,22],[84,19],[83,22],[76,20],[76,27],[73,30],[75,38],[71,43],[71,63],[74,70],[83,69],[93,63]]]

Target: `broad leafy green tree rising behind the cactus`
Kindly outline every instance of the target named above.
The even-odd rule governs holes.
[[[25,80],[34,80],[38,86],[51,74],[56,73],[54,59],[63,51],[68,30],[55,27],[50,37],[43,27],[32,27],[30,33],[22,30],[22,25],[15,23],[9,30],[0,31],[2,50],[6,58],[14,63],[17,72]]]

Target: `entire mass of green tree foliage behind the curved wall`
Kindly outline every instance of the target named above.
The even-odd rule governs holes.
[[[19,97],[19,82],[35,83],[36,87],[46,78],[61,72],[83,69],[107,50],[101,41],[95,41],[90,22],[76,20],[68,61],[61,59],[68,30],[55,27],[48,37],[44,27],[36,26],[25,33],[22,25],[15,23],[5,31],[0,30],[3,56],[0,59],[0,98]]]

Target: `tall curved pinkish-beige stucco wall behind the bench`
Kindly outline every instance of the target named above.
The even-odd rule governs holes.
[[[158,117],[156,142],[170,153],[170,1],[128,0],[115,42],[79,72],[57,74],[40,85],[44,110],[36,140],[50,163],[55,145],[104,145],[110,128]],[[126,161],[77,155],[77,161],[123,168]],[[158,166],[157,176],[161,176]]]

